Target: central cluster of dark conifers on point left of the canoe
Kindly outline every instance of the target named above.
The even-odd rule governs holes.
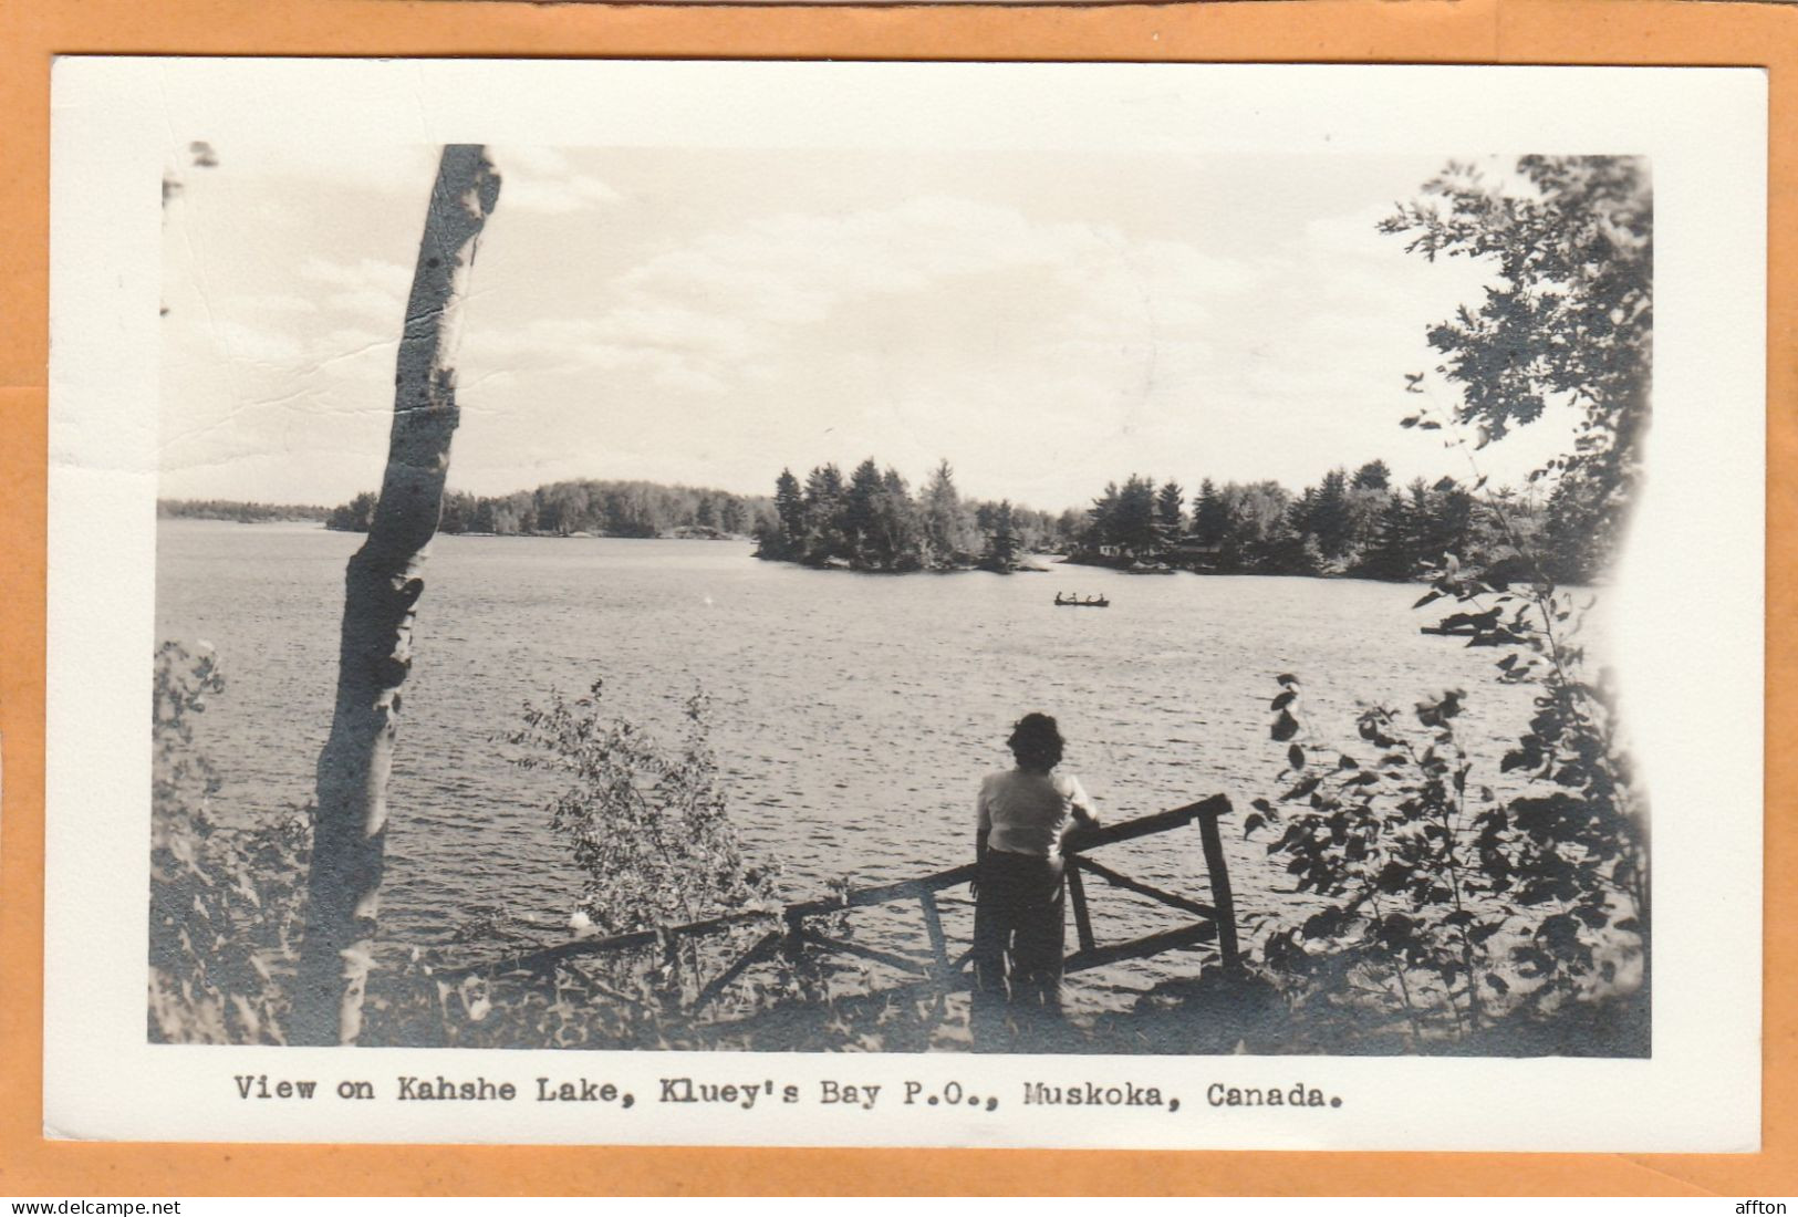
[[[834,464],[814,466],[804,484],[782,469],[755,555],[879,572],[1016,570],[1027,554],[1063,550],[1075,523],[1073,512],[964,500],[948,460],[913,494],[897,469],[870,457],[847,478]]]

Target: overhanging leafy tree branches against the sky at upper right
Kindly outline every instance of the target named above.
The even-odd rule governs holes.
[[[1530,480],[1553,485],[1546,530],[1559,541],[1539,559],[1580,581],[1615,557],[1642,480],[1654,351],[1649,164],[1521,156],[1509,178],[1449,164],[1379,228],[1408,237],[1408,253],[1474,259],[1498,275],[1478,306],[1428,331],[1444,360],[1437,374],[1460,388],[1455,422],[1480,448],[1557,403],[1579,412],[1573,449]]]

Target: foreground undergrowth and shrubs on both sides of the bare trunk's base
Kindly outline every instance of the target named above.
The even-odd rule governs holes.
[[[151,802],[149,1037],[156,1043],[284,1043],[288,982],[304,917],[311,823],[304,811],[252,829],[214,816],[219,780],[194,744],[192,715],[225,690],[212,654],[178,644],[156,653]],[[583,956],[541,967],[471,967],[494,944],[509,955],[548,946],[498,915],[464,924],[437,947],[383,951],[361,1043],[485,1048],[766,1048],[899,1050],[928,1037],[928,1003],[841,1003],[841,974],[809,955],[766,953],[705,1010],[708,976],[779,924],[775,872],[750,859],[728,818],[707,746],[699,696],[685,732],[663,746],[640,726],[599,712],[592,696],[527,706],[507,741],[523,768],[566,775],[550,823],[584,884],[570,926],[626,933],[719,913],[766,911],[703,940]],[[841,931],[841,929],[840,929]],[[832,989],[832,978],[836,987]],[[732,1030],[701,1019],[748,1017],[804,999],[814,1014],[782,1028]]]

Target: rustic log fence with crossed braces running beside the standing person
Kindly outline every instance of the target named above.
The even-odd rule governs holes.
[[[1136,820],[1124,820],[1120,823],[1084,831],[1070,838],[1066,843],[1066,875],[1068,902],[1073,906],[1073,931],[1077,946],[1073,953],[1066,956],[1064,971],[1079,973],[1093,967],[1104,967],[1108,964],[1120,964],[1124,960],[1149,958],[1163,951],[1208,947],[1226,974],[1239,973],[1242,967],[1242,955],[1237,946],[1235,897],[1230,890],[1230,874],[1224,863],[1223,838],[1217,829],[1219,818],[1230,811],[1232,807],[1226,796],[1212,795],[1210,798],[1187,804],[1185,807],[1140,816]],[[1199,827],[1199,845],[1212,895],[1210,904],[1142,883],[1140,879],[1133,879],[1088,857],[1088,854],[1095,848],[1156,836],[1160,832],[1181,829],[1188,823],[1197,823]],[[1091,897],[1088,897],[1082,875],[1091,875],[1108,886],[1187,913],[1194,920],[1174,929],[1163,929],[1124,942],[1102,944],[1093,929]],[[699,989],[689,1007],[690,1012],[698,1014],[701,1008],[710,1005],[725,992],[725,989],[730,987],[732,982],[757,964],[770,962],[779,953],[793,955],[807,947],[814,951],[852,955],[874,964],[883,964],[904,973],[915,982],[935,983],[944,989],[964,989],[971,983],[971,978],[967,976],[967,964],[973,953],[967,949],[958,955],[951,951],[949,937],[942,928],[942,910],[937,902],[937,895],[948,888],[969,883],[973,877],[975,863],[967,863],[962,866],[951,866],[949,870],[921,875],[917,879],[850,888],[841,895],[802,901],[798,904],[788,904],[780,910],[726,913],[723,917],[708,917],[705,920],[678,926],[656,926],[653,929],[636,929],[604,938],[561,942],[489,964],[446,969],[441,971],[439,976],[448,980],[473,974],[554,976],[557,967],[570,965],[574,960],[642,951],[645,947],[658,946],[665,953],[672,953],[681,942],[708,938],[730,929],[762,924],[768,926],[768,929],[757,937],[743,955],[739,955],[730,965],[717,973],[717,976],[707,982],[703,989]],[[823,917],[838,915],[849,910],[881,908],[910,901],[917,901],[919,911],[922,913],[924,940],[928,944],[928,956],[924,958],[874,947],[852,938],[832,937],[816,926],[816,922]]]

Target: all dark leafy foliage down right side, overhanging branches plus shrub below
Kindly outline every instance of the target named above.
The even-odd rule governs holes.
[[[1478,309],[1429,331],[1446,358],[1437,372],[1460,390],[1447,446],[1465,448],[1453,437],[1460,426],[1483,448],[1557,399],[1579,406],[1575,449],[1532,482],[1553,485],[1546,539],[1584,536],[1575,570],[1591,573],[1618,545],[1647,426],[1643,164],[1525,156],[1510,187],[1449,165],[1381,228],[1410,235],[1413,253],[1489,259],[1498,270],[1500,286]],[[1422,392],[1422,379],[1408,378],[1410,392]],[[1428,412],[1404,426],[1444,430]],[[1291,786],[1278,805],[1257,800],[1248,829],[1278,831],[1269,854],[1318,908],[1277,928],[1262,955],[1298,1003],[1401,1012],[1413,1046],[1559,1021],[1600,1028],[1615,1052],[1645,1053],[1645,800],[1609,681],[1586,674],[1575,642],[1582,609],[1550,581],[1570,555],[1534,550],[1501,509],[1494,521],[1507,530],[1496,555],[1510,572],[1496,572],[1491,554],[1447,548],[1417,608],[1460,606],[1438,633],[1496,649],[1494,680],[1535,688],[1528,724],[1498,775],[1476,775],[1456,739],[1462,690],[1420,701],[1415,723],[1365,710],[1359,748],[1372,759],[1325,751],[1300,739],[1298,681],[1282,676],[1273,737],[1287,744]],[[1518,568],[1532,572],[1523,588]],[[1496,795],[1505,784],[1514,789]]]

